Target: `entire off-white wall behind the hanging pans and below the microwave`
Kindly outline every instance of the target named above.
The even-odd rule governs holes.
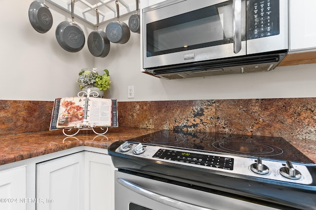
[[[55,38],[56,26],[70,14],[49,5],[54,23],[47,33],[34,30],[28,19],[33,0],[1,0],[0,99],[48,100],[76,95],[78,72],[84,67],[109,69],[112,80],[106,97],[118,101],[195,100],[237,98],[316,97],[316,64],[277,67],[271,72],[212,76],[180,80],[158,79],[141,73],[140,34],[131,32],[126,44],[111,43],[105,58],[94,58],[84,48],[63,50]],[[120,20],[128,22],[129,16]],[[93,28],[75,19],[86,39]],[[105,30],[106,24],[99,30]],[[135,98],[127,98],[133,85]]]

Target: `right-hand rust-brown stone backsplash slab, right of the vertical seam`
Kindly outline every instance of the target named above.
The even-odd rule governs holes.
[[[216,132],[316,140],[316,99],[217,100]]]

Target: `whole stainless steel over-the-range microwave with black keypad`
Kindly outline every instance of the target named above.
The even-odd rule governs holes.
[[[166,0],[142,21],[143,69],[165,79],[270,71],[288,52],[288,0]]]

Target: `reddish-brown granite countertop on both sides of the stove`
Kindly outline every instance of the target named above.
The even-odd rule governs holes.
[[[62,130],[0,136],[0,165],[79,146],[108,149],[116,141],[128,140],[158,130],[113,127],[109,128],[106,134],[100,136],[92,131],[84,130],[74,137],[65,136]],[[314,140],[286,140],[316,163],[316,145]]]

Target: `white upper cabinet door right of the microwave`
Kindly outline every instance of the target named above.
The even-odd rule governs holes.
[[[290,50],[316,48],[316,0],[290,0]]]

